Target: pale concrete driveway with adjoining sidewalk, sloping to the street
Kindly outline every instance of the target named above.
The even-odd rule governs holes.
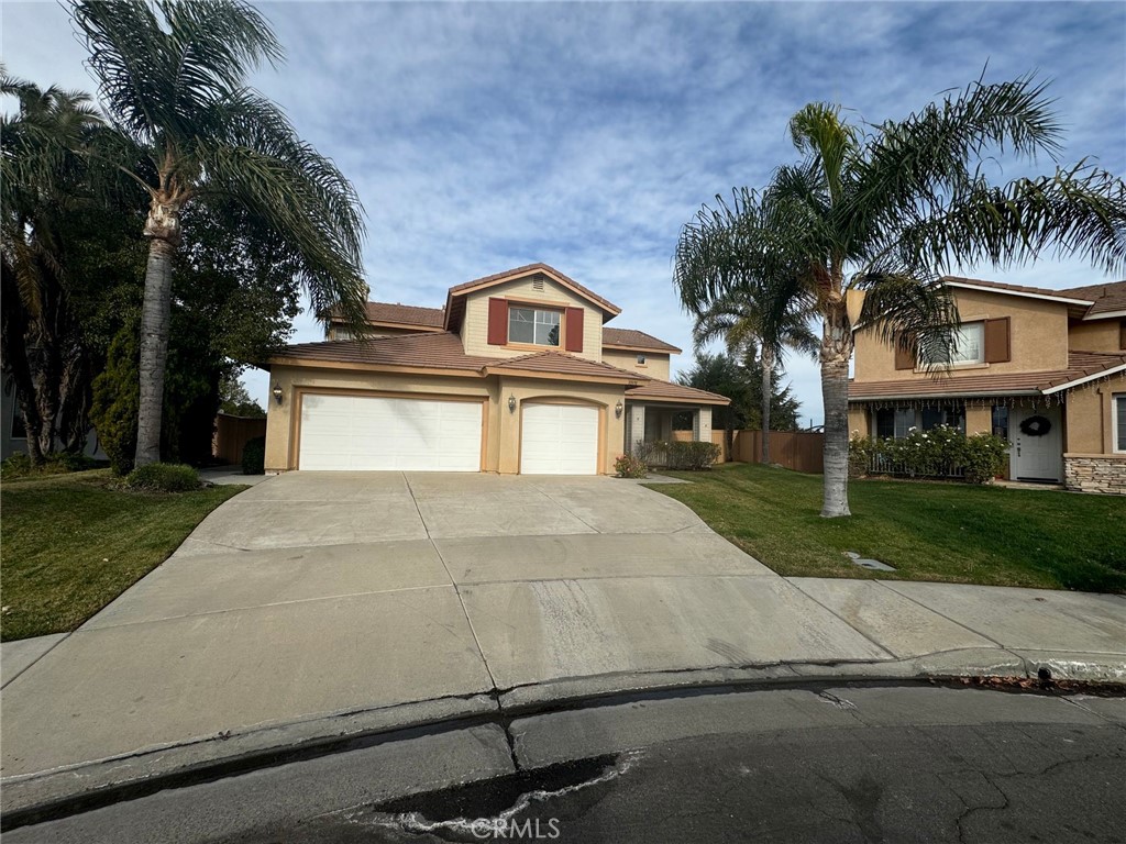
[[[1042,666],[1126,681],[1126,599],[787,580],[611,478],[296,473],[225,503],[77,632],[2,656],[10,808],[626,690]]]

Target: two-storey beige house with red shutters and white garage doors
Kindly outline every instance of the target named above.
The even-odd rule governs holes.
[[[452,287],[443,308],[368,303],[375,339],[272,357],[266,470],[611,474],[689,412],[711,442],[724,396],[669,381],[680,350],[604,327],[619,308],[536,263]]]

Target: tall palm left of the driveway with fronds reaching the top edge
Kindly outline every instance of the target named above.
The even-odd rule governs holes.
[[[315,312],[358,330],[366,287],[361,209],[336,165],[301,141],[282,110],[245,83],[283,51],[241,0],[70,0],[113,125],[132,147],[125,170],[149,196],[141,320],[136,465],[160,459],[172,258],[189,203],[234,199],[272,230]]]

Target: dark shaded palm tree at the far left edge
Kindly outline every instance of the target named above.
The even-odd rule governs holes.
[[[0,68],[0,277],[5,370],[16,386],[33,465],[81,448],[89,367],[66,288],[65,240],[75,213],[93,207],[96,172],[84,152],[106,127],[88,95],[37,86]]]

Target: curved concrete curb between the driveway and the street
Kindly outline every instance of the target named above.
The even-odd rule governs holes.
[[[474,722],[598,704],[624,694],[787,688],[823,682],[1036,677],[1126,685],[1126,657],[1067,652],[950,650],[886,662],[776,663],[561,677],[494,694],[439,698],[259,726],[187,743],[0,780],[0,830],[89,811],[170,788],[222,779],[303,758],[395,740],[410,730],[456,729]]]

